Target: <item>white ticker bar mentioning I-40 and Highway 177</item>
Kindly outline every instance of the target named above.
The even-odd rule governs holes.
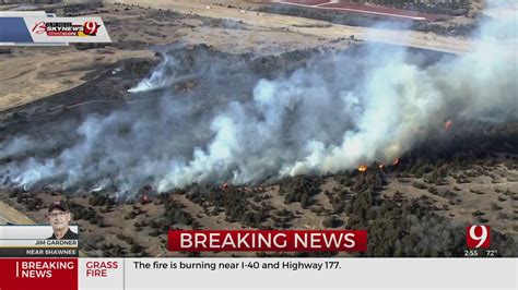
[[[106,277],[92,263],[117,262]],[[326,263],[337,269],[138,269],[149,263]],[[517,258],[80,258],[79,286],[101,289],[478,289],[516,290]]]

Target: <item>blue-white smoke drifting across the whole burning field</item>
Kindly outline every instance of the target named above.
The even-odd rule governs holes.
[[[0,181],[127,194],[144,184],[163,192],[193,182],[247,183],[391,162],[437,133],[445,120],[518,118],[518,61],[501,45],[502,37],[517,37],[514,27],[516,20],[484,24],[471,52],[425,68],[395,47],[320,58],[287,77],[259,80],[252,98],[203,116],[193,116],[196,106],[185,98],[160,101],[149,111],[91,114],[64,147],[20,134],[0,143],[0,158],[10,159]],[[225,69],[207,65],[203,77]],[[174,58],[164,58],[133,92],[169,87],[177,70]],[[38,152],[52,155],[28,154]]]

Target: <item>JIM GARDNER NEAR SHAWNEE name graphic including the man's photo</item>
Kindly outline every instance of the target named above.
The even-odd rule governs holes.
[[[71,226],[67,204],[57,201],[47,210],[49,226],[0,226],[0,257],[76,257],[78,226]]]

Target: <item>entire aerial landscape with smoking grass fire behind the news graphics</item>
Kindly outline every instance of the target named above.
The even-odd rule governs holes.
[[[87,256],[518,255],[511,1],[0,1],[110,44],[0,47],[0,223]],[[366,253],[181,253],[168,229],[365,229]]]

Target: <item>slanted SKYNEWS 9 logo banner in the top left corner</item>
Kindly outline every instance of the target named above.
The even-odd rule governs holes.
[[[56,17],[45,11],[0,13],[0,45],[111,43],[101,17]]]

